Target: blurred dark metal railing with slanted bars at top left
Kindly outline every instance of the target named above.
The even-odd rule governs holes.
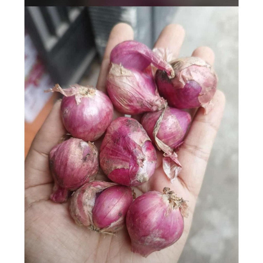
[[[54,82],[78,82],[96,55],[85,7],[25,7],[25,28]]]

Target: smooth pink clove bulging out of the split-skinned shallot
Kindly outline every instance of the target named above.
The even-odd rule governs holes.
[[[125,225],[125,218],[133,201],[130,187],[123,185],[105,189],[95,200],[92,220],[95,227],[103,229],[114,223],[114,230]]]

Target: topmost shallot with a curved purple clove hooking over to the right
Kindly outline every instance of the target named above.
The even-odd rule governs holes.
[[[151,65],[174,77],[171,65],[142,43],[124,41],[113,48],[106,87],[119,112],[139,114],[167,105],[156,89]]]

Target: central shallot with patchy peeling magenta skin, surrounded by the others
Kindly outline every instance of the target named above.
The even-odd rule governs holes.
[[[141,124],[119,117],[108,127],[100,147],[100,167],[115,183],[136,186],[145,183],[156,167],[156,151]]]

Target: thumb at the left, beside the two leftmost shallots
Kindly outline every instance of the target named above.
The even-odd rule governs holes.
[[[48,154],[66,133],[60,117],[60,104],[60,101],[54,104],[30,147],[25,160],[25,188],[53,181]]]

